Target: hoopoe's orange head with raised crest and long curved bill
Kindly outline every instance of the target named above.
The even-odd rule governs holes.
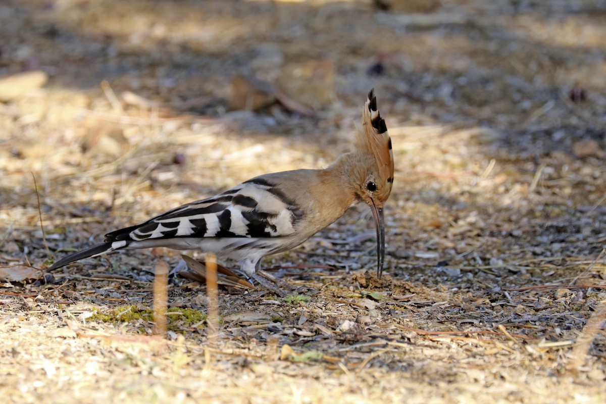
[[[385,225],[383,204],[393,186],[393,153],[385,121],[377,109],[375,90],[370,90],[362,110],[362,128],[355,139],[355,193],[370,207],[377,231],[377,272],[379,277],[385,259]]]

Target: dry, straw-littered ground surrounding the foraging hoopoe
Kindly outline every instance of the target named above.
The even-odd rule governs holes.
[[[381,280],[353,208],[265,260],[318,294],[223,289],[215,338],[205,286],[182,277],[165,342],[112,311],[152,306],[175,252],[4,283],[3,402],[606,401],[606,2],[393,3],[0,3],[0,76],[50,76],[0,104],[2,267],[43,269],[257,174],[327,165],[371,87],[396,159]],[[328,73],[292,75],[308,64]],[[323,105],[232,111],[238,74]]]

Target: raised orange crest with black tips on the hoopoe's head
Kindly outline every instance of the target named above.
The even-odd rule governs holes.
[[[375,89],[368,93],[368,99],[362,110],[362,130],[358,130],[354,140],[359,151],[365,151],[375,157],[379,167],[379,177],[384,182],[385,199],[391,193],[393,186],[393,151],[391,151],[391,138],[387,133],[385,120],[377,108]]]

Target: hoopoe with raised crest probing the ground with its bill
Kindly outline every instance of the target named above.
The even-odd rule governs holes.
[[[168,247],[215,253],[238,261],[249,279],[284,296],[261,259],[290,250],[364,202],[375,219],[377,271],[385,259],[383,204],[393,186],[393,152],[374,89],[362,110],[353,151],[324,169],[264,174],[216,196],[190,202],[132,227],[105,234],[104,242],[58,260],[48,270],[117,250]],[[283,282],[285,283],[285,282]]]

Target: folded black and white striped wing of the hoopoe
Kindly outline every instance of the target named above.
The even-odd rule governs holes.
[[[178,237],[282,237],[295,233],[301,219],[296,205],[259,177],[143,224],[108,233],[105,242],[121,248],[121,241],[125,246],[132,241]]]

